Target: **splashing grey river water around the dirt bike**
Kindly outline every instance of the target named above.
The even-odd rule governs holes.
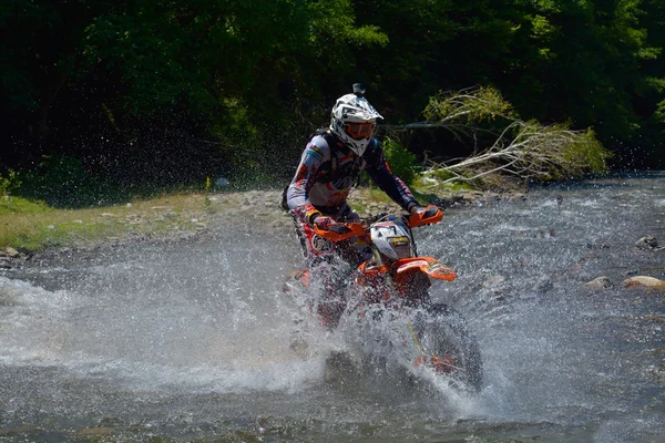
[[[559,200],[557,200],[557,197]],[[663,442],[665,173],[479,202],[416,231],[484,363],[478,395],[331,360],[345,334],[282,293],[285,231],[0,274],[0,442]],[[582,285],[606,276],[613,288]]]

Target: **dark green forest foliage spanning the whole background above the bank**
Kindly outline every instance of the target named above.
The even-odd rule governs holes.
[[[275,179],[356,81],[389,124],[427,106],[570,121],[637,158],[665,143],[662,0],[8,0],[0,29],[3,169],[45,154],[131,186]],[[474,84],[482,100],[428,106]]]

